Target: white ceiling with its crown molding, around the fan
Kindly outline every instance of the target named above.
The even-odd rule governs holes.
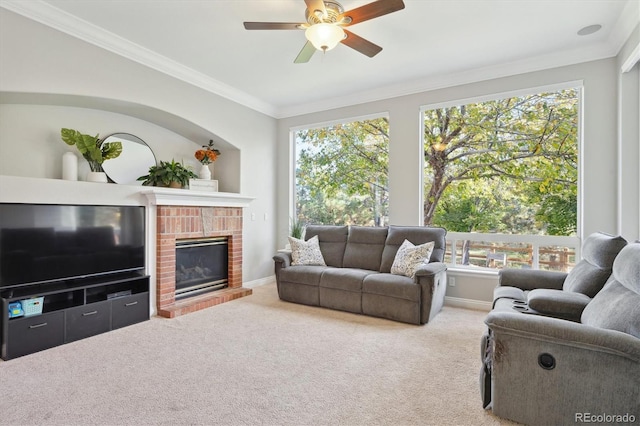
[[[380,0],[384,1],[384,0]],[[371,0],[343,0],[350,10]],[[349,27],[382,46],[293,60],[303,0],[3,0],[0,5],[274,117],[614,56],[640,22],[638,0],[404,0]],[[600,24],[594,34],[581,28]]]

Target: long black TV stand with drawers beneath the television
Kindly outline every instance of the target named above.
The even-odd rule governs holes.
[[[0,291],[0,358],[10,360],[149,319],[149,276],[123,273]],[[43,297],[42,313],[9,318],[9,304]]]

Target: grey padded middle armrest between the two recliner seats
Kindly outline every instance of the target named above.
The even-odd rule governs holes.
[[[529,307],[537,312],[575,322],[580,322],[582,311],[590,301],[586,294],[547,288],[531,290],[527,296]]]

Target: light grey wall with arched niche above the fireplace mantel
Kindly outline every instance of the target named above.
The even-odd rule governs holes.
[[[183,136],[180,137],[176,132],[158,127],[172,129],[175,123],[166,117],[181,117],[192,123],[194,129],[205,129],[226,141],[230,149],[238,150],[230,155],[240,156],[233,160],[240,169],[239,192],[255,197],[251,206],[245,209],[243,278],[247,282],[273,274],[271,256],[276,249],[273,222],[276,216],[275,119],[5,9],[0,9],[0,24],[0,93],[54,94],[53,98],[42,97],[53,103],[56,99],[66,101],[67,95],[99,98],[107,102],[112,100],[115,105],[146,109],[137,113],[152,116],[147,120],[149,123],[141,123],[93,110],[82,111],[72,121],[73,109],[68,107],[4,105],[0,109],[0,156],[3,158],[0,174],[24,176],[29,173],[25,170],[34,169],[30,176],[44,173],[47,177],[59,177],[59,154],[65,146],[62,141],[55,140],[54,135],[61,127],[85,129],[80,116],[87,119],[87,133],[106,134],[109,129],[126,132],[127,129],[121,126],[131,126],[144,135],[149,134],[148,142],[158,150],[158,158],[185,156],[186,159],[192,155],[189,152],[195,151],[203,142],[191,139],[193,146],[189,149],[189,140],[184,137],[188,131],[182,129]],[[62,105],[67,104],[63,102]],[[154,115],[148,111],[163,114]],[[52,113],[49,118],[45,116],[48,112]],[[57,122],[56,117],[64,122]],[[160,118],[155,120],[157,117]],[[96,128],[92,130],[94,125]],[[32,126],[36,128],[31,129]],[[130,133],[135,134],[134,131]],[[144,135],[139,136],[144,139]],[[21,146],[42,150],[31,150],[25,157],[20,152]],[[219,162],[224,160],[222,156]],[[251,220],[252,216],[256,220]]]

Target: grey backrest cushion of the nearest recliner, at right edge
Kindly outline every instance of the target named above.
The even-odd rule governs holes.
[[[613,281],[587,305],[581,321],[640,338],[640,244],[622,249],[613,264]]]

